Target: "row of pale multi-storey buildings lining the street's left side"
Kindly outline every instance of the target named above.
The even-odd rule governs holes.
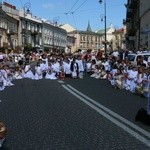
[[[3,2],[0,13],[0,46],[6,49],[57,50],[67,46],[67,32],[50,21],[33,16],[29,8],[17,10]]]

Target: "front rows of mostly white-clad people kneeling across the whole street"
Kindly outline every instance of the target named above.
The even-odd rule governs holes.
[[[18,61],[13,67],[9,63],[0,65],[0,90],[12,86],[13,79],[29,78],[64,79],[83,78],[85,74],[96,79],[107,79],[116,89],[126,89],[133,93],[148,96],[150,86],[150,64],[132,65],[127,59],[116,57],[83,60],[81,55],[69,57],[43,55],[33,68],[29,59]],[[8,65],[9,64],[9,65]]]

